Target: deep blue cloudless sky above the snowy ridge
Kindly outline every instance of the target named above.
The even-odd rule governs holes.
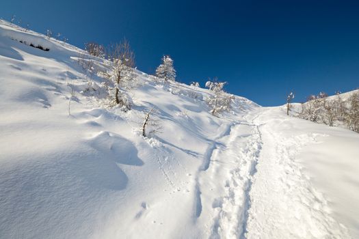
[[[359,1],[23,1],[1,0],[12,14],[71,44],[126,37],[137,68],[155,72],[171,55],[178,81],[218,76],[226,90],[263,106],[319,91],[359,87]]]

